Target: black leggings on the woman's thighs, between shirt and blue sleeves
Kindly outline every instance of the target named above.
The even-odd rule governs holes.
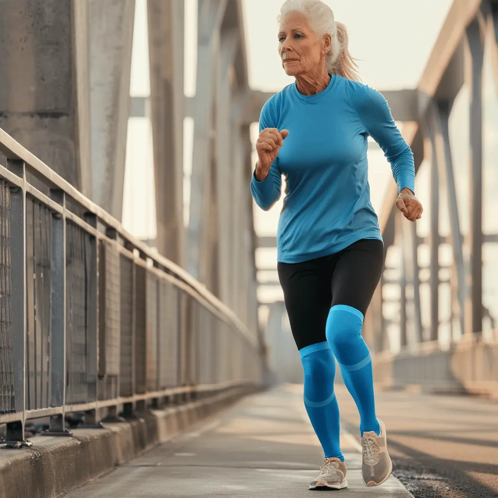
[[[329,256],[301,263],[277,263],[285,307],[297,349],[326,341],[332,306],[346,304],[363,315],[384,265],[384,245],[362,239]]]

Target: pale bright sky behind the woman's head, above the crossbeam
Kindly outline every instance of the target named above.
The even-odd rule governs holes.
[[[276,17],[283,0],[242,0],[251,87],[292,82],[279,63]],[[453,0],[325,0],[350,31],[364,83],[378,90],[416,86]]]

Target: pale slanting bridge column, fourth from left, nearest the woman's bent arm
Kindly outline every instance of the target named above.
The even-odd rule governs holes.
[[[219,56],[219,30],[227,0],[198,0],[197,87],[193,99],[194,151],[192,160],[190,220],[188,229],[187,270],[195,278],[206,282],[208,248],[212,237],[209,231],[214,220],[208,217],[210,200],[207,178],[213,158],[213,113],[215,95],[216,58]],[[223,138],[223,137],[222,137]]]

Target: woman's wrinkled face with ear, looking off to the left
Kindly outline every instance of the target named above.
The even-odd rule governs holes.
[[[308,27],[305,15],[289,12],[282,19],[278,33],[278,51],[287,75],[308,74],[324,65],[331,41],[330,34],[318,38]]]

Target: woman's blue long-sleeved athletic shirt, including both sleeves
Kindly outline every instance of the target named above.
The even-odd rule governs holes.
[[[387,101],[377,91],[341,76],[316,95],[292,83],[263,106],[259,130],[288,129],[268,176],[254,174],[256,204],[269,210],[280,198],[277,260],[306,261],[336,253],[360,239],[382,240],[370,201],[367,137],[389,161],[398,190],[415,192],[413,153],[394,124]]]

